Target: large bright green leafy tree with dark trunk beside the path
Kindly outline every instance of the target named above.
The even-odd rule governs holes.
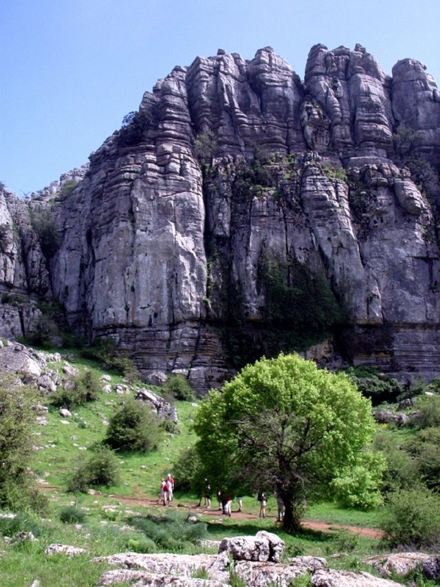
[[[350,491],[351,504],[369,504],[378,495],[383,462],[366,453],[374,432],[369,399],[344,374],[320,370],[297,354],[245,367],[221,392],[210,392],[194,427],[211,484],[276,491],[287,529],[300,524],[306,500],[338,489]],[[358,500],[350,471],[364,480]]]

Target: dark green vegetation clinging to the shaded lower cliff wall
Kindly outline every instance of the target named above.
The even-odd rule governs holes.
[[[228,297],[223,337],[234,367],[281,351],[305,350],[331,337],[347,320],[325,277],[298,260],[287,264],[263,255],[259,286],[264,295],[261,317],[250,321],[239,286],[230,284],[235,291]]]

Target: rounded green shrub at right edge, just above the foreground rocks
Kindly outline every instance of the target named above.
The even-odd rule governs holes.
[[[381,527],[388,546],[439,546],[439,496],[423,486],[396,491],[389,499]]]

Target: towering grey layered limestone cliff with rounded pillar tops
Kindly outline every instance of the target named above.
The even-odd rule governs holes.
[[[285,350],[331,336],[319,325],[292,339],[314,322],[304,302],[297,321],[274,318],[267,263],[283,292],[298,289],[299,267],[345,308],[323,363],[429,379],[439,165],[440,96],[419,62],[388,76],[360,45],[316,45],[301,81],[271,47],[251,61],[221,50],[159,80],[64,188],[27,203],[3,191],[0,281],[53,294],[78,334],[111,337],[145,376],[184,372],[203,392],[278,352],[271,333]],[[28,211],[48,198],[56,250],[44,254]],[[23,332],[10,308],[3,322]]]

